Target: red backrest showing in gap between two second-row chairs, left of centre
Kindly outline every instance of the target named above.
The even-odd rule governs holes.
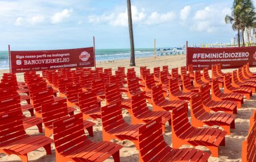
[[[79,93],[79,108],[82,113],[87,114],[93,109],[98,109],[98,107],[100,105],[98,105],[97,95],[91,90]]]

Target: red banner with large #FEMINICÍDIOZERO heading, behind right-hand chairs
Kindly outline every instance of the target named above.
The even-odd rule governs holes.
[[[246,63],[256,66],[256,47],[232,48],[191,48],[187,47],[187,66],[193,69],[211,68],[221,64],[221,68],[238,68]]]

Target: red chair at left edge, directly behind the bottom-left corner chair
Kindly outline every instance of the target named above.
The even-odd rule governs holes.
[[[0,98],[0,114],[5,114],[9,111],[20,111],[22,114],[22,106],[18,95],[9,96],[8,98]],[[42,119],[37,117],[25,117],[22,118],[24,129],[36,126],[39,132],[43,132]]]

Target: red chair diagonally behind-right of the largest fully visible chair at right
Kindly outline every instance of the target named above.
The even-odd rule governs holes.
[[[193,127],[203,127],[207,126],[221,126],[228,135],[230,135],[230,128],[235,128],[233,114],[228,113],[207,113],[204,110],[203,101],[201,98],[201,93],[192,96],[190,101],[191,109],[191,124]]]

